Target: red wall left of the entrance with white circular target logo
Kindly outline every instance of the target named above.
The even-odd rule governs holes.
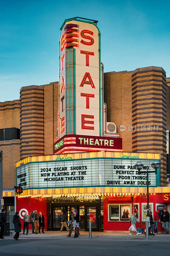
[[[47,200],[45,198],[31,198],[31,197],[18,198],[17,197],[16,203],[17,203],[16,205],[17,212],[20,212],[19,217],[22,224],[21,229],[23,229],[23,223],[24,223],[23,222],[23,215],[25,213],[24,209],[26,209],[29,214],[30,212],[33,212],[34,209],[37,209],[38,213],[42,212],[45,220],[45,229],[47,228]],[[29,225],[29,229],[32,230],[32,224]]]

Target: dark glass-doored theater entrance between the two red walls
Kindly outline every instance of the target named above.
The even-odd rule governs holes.
[[[101,204],[98,202],[56,202],[51,199],[47,205],[47,230],[60,230],[62,221],[62,211],[65,212],[67,220],[72,219],[73,209],[77,209],[79,214],[79,226],[82,231],[89,231],[89,220],[92,221],[92,231],[103,231],[103,215]],[[68,225],[69,226],[69,225]],[[63,230],[66,230],[64,227]]]

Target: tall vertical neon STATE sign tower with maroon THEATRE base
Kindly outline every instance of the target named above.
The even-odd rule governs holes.
[[[65,20],[61,27],[58,133],[54,154],[94,151],[94,148],[122,150],[120,135],[106,132],[100,30],[95,23],[73,18]],[[100,144],[97,139],[93,145],[92,139],[88,147],[83,143],[77,144],[77,139],[75,143],[75,135],[84,140],[87,134],[101,137],[104,142]],[[107,137],[117,137],[117,146],[112,147],[111,141],[108,146],[105,143]],[[103,147],[104,143],[106,147]]]

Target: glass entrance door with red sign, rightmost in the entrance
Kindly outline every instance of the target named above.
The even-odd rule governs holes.
[[[92,221],[92,231],[99,231],[99,206],[87,207],[87,230],[89,220]]]

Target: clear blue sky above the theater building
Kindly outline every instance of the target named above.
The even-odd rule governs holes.
[[[147,66],[170,76],[170,1],[0,1],[0,101],[22,86],[58,81],[59,30],[65,19],[99,20],[104,72]]]

